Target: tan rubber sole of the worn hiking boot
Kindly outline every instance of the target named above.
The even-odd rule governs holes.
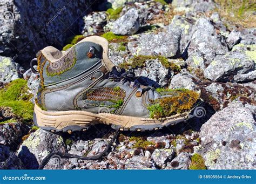
[[[194,107],[196,108],[196,107]],[[194,110],[193,108],[193,110]],[[164,126],[176,125],[194,117],[193,110],[172,115],[163,121],[151,118],[139,118],[111,113],[90,113],[86,111],[43,111],[35,104],[33,120],[36,126],[51,132],[86,131],[91,125],[111,125],[120,131],[151,131]]]

